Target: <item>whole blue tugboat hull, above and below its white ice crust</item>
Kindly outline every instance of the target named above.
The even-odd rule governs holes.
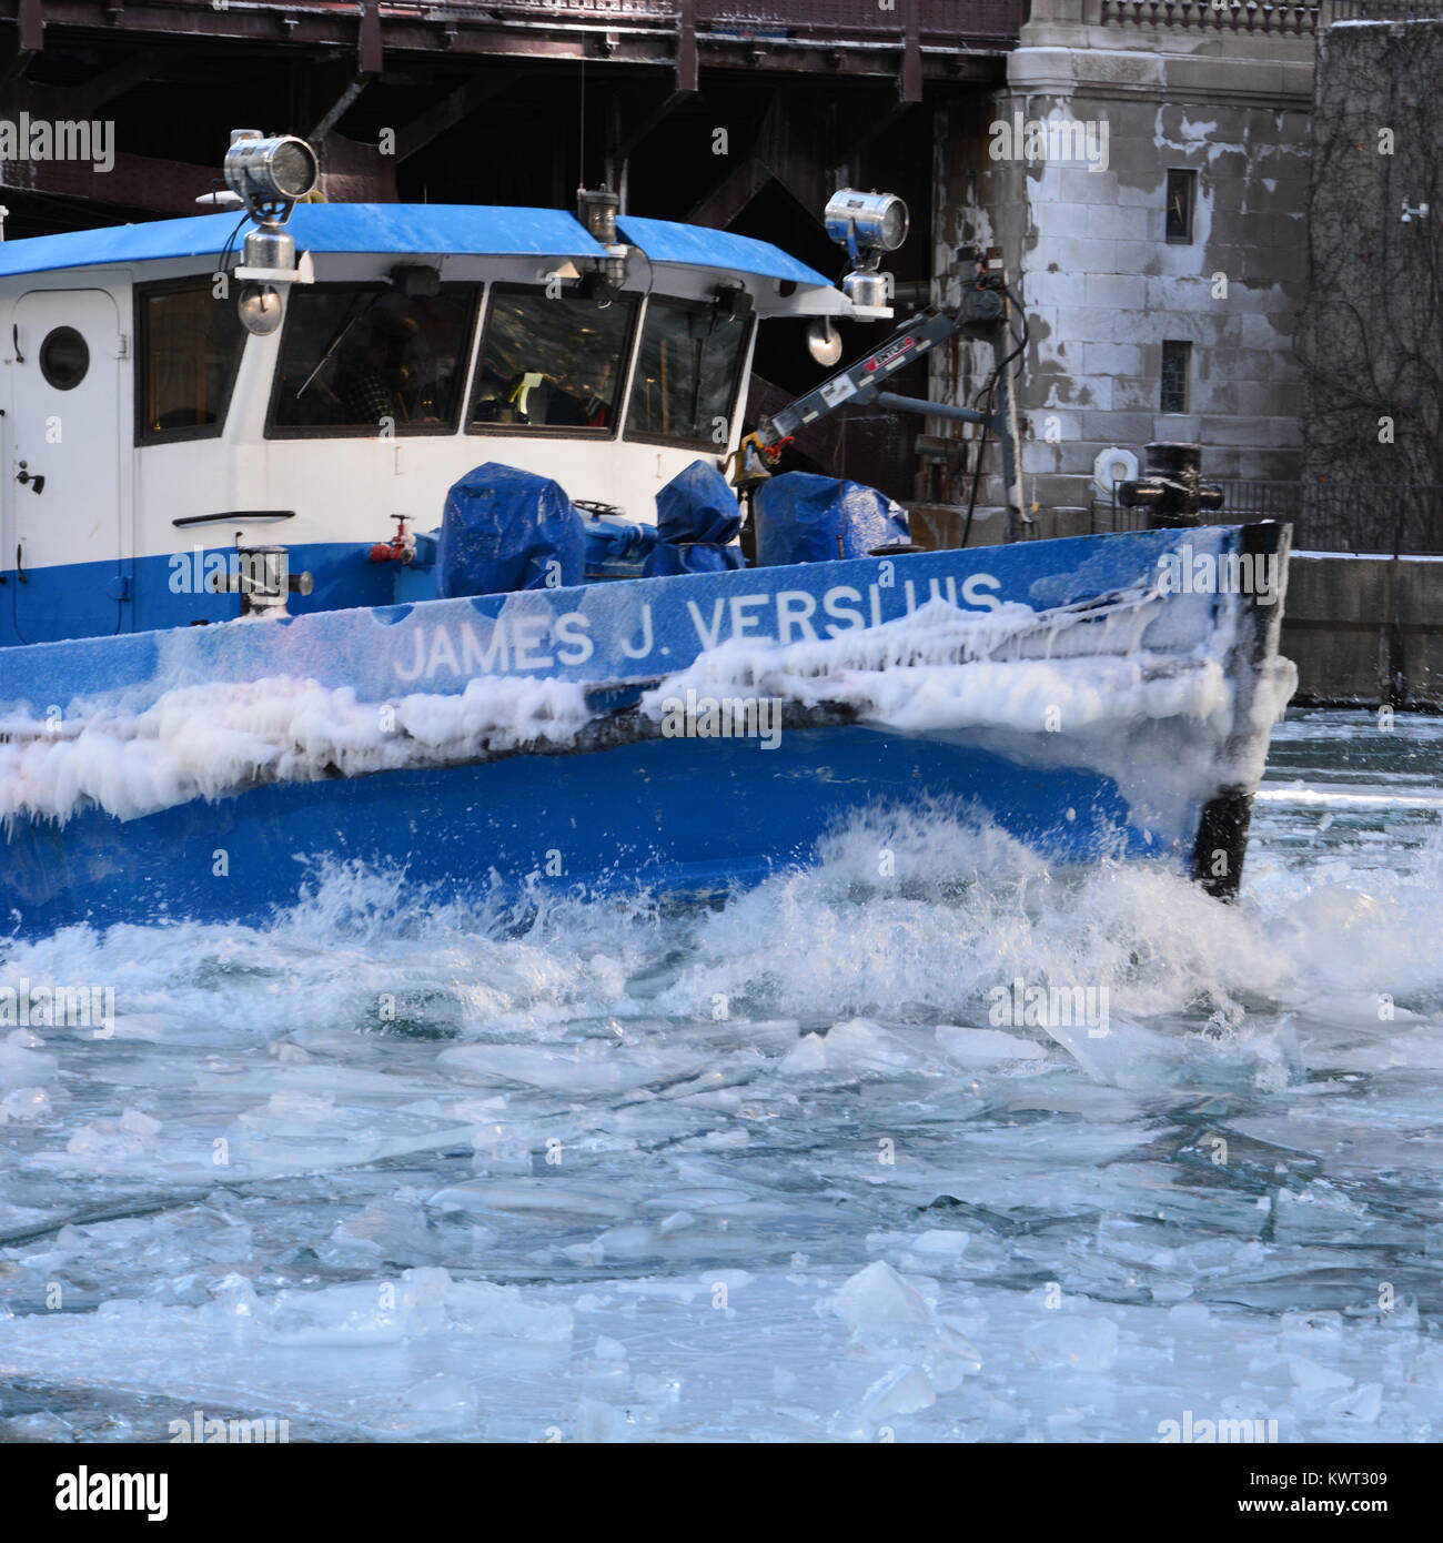
[[[769,614],[781,619],[782,642],[798,617],[812,619],[807,631],[823,642],[857,639],[904,620],[928,594],[983,614],[1022,602],[1057,616],[1057,606],[1096,602],[1100,620],[1119,593],[1148,583],[1159,555],[1184,537],[1215,552],[1245,540],[1230,528],[1139,532],[3,650],[0,707],[12,721],[17,711],[39,721],[59,699],[71,702],[63,721],[83,725],[96,701],[144,711],[177,685],[296,677],[386,702],[418,690],[455,699],[471,682],[520,676],[585,688],[594,710],[562,748],[489,747],[449,764],[363,775],[321,765],[161,809],[117,812],[79,799],[59,819],[12,816],[0,867],[5,930],[165,918],[264,923],[336,864],[403,875],[435,900],[478,900],[497,884],[715,892],[813,863],[863,812],[923,807],[986,819],[1051,863],[1147,856],[1205,878],[1201,855],[1224,850],[1221,889],[1233,889],[1252,792],[1236,782],[1159,796],[1167,807],[1148,813],[1134,785],[1119,785],[1125,765],[1114,776],[1096,753],[1080,751],[1068,764],[1065,734],[1034,755],[1016,730],[912,731],[813,701],[787,704],[784,731],[767,747],[758,738],[665,738],[637,705],[657,679],[713,657],[707,650],[727,640],[728,625],[749,647],[775,639],[776,626],[770,634],[765,622],[758,626]],[[1218,596],[1168,605],[1164,631],[1179,660],[1210,630],[1230,628],[1227,668],[1241,690],[1241,721],[1252,677],[1272,657],[1281,606],[1262,616],[1245,599]],[[830,631],[821,628],[826,616],[836,619]],[[1083,625],[1079,636],[1086,634]],[[1176,761],[1179,744],[1187,751],[1185,741],[1168,738],[1174,727],[1124,725],[1127,758]],[[1266,728],[1255,722],[1247,733],[1261,731],[1266,745]],[[889,872],[881,852],[877,872]],[[892,876],[906,878],[895,869]]]

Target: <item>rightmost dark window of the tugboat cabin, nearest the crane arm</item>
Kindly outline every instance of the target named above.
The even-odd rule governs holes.
[[[682,299],[647,304],[627,438],[724,451],[745,356],[747,321]]]

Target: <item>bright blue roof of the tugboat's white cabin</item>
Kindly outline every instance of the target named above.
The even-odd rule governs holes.
[[[219,256],[239,247],[250,221],[236,210],[110,225],[0,244],[0,278],[164,258]],[[815,268],[767,241],[665,219],[617,221],[622,236],[653,262],[685,262],[796,284],[829,284]],[[559,208],[483,204],[299,204],[287,227],[309,252],[466,253],[475,256],[600,258],[605,248]]]

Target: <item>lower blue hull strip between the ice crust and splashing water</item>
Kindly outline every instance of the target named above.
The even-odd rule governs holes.
[[[20,827],[5,889],[26,930],[259,921],[340,863],[403,873],[443,901],[485,898],[497,883],[701,895],[810,866],[852,815],[921,805],[985,812],[1063,863],[1165,855],[1128,827],[1110,779],[835,725],[789,730],[775,751],[665,739],[276,784],[123,822],[88,810],[63,829]]]

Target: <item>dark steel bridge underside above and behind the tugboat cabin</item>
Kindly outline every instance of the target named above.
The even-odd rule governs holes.
[[[244,127],[310,139],[330,199],[569,208],[605,181],[633,213],[761,236],[826,273],[827,196],[884,187],[912,210],[889,267],[926,281],[932,110],[1002,83],[1022,5],[0,0],[0,120],[114,125],[108,170],[0,160],[5,235],[193,214]],[[756,392],[816,378],[799,324],[764,329]],[[914,423],[853,412],[829,435],[829,469],[911,494]]]

